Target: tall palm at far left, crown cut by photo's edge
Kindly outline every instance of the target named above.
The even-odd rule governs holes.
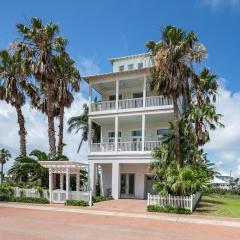
[[[26,68],[22,67],[19,52],[13,54],[6,50],[0,52],[0,99],[5,100],[16,109],[19,124],[20,156],[26,156],[27,131],[22,106],[25,104],[25,92],[29,93],[32,87],[26,81],[27,76],[28,72]]]

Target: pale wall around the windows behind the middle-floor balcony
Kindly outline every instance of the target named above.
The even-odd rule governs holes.
[[[147,123],[145,128],[145,141],[157,140],[157,129],[167,128],[167,122]],[[119,131],[121,132],[121,142],[128,142],[132,140],[131,131],[142,130],[142,120],[136,120],[136,123],[121,124],[119,120]],[[102,142],[108,142],[108,132],[114,132],[115,127],[112,125],[102,126]]]

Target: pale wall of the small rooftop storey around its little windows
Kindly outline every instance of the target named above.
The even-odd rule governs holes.
[[[113,62],[113,72],[119,72],[119,67],[124,65],[124,71],[128,71],[128,65],[133,64],[133,69],[138,69],[138,63],[143,63],[143,68],[151,67],[152,62],[147,56],[137,56],[129,59],[118,59]]]

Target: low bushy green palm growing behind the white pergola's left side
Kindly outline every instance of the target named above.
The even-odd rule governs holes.
[[[68,158],[59,154],[55,156],[57,160],[68,161]],[[29,156],[17,157],[13,166],[8,171],[15,181],[37,181],[41,179],[43,186],[48,186],[48,171],[43,168],[39,161],[50,161],[50,155],[33,150]]]

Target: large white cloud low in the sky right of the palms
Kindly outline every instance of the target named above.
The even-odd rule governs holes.
[[[225,128],[211,131],[211,141],[205,150],[220,172],[240,176],[240,92],[232,93],[221,87],[217,100],[217,111],[223,114],[221,122]]]

